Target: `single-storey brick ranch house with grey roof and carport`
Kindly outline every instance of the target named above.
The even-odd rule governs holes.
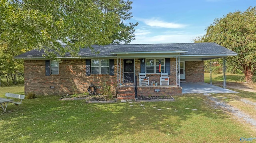
[[[87,92],[90,83],[102,88],[111,85],[118,99],[134,99],[134,82],[146,72],[149,82],[158,86],[137,86],[137,95],[179,95],[180,82],[204,82],[204,61],[237,55],[216,43],[92,45],[80,49],[80,57],[59,57],[56,62],[32,50],[16,57],[24,59],[25,94],[66,95]],[[160,72],[169,74],[170,86],[159,86]],[[100,91],[97,89],[97,93]]]

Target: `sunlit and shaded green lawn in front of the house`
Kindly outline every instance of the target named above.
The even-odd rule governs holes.
[[[5,92],[24,94],[24,86],[0,87],[0,97]],[[256,94],[239,92],[212,96],[254,116],[255,106],[239,102],[256,102]],[[174,102],[111,104],[59,98],[25,99],[20,110],[0,114],[0,143],[234,143],[240,142],[240,137],[256,137],[254,127],[214,108],[203,94],[174,96]],[[15,108],[8,105],[9,110]]]

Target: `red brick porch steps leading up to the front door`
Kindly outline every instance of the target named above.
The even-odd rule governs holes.
[[[118,100],[135,100],[134,87],[121,86],[116,88]]]

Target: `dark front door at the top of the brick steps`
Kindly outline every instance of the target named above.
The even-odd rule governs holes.
[[[124,83],[134,82],[134,59],[124,59]]]

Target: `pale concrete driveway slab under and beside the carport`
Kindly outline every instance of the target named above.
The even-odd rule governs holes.
[[[219,86],[214,86],[204,82],[196,83],[180,83],[182,94],[186,93],[239,93],[229,89],[223,89]]]

